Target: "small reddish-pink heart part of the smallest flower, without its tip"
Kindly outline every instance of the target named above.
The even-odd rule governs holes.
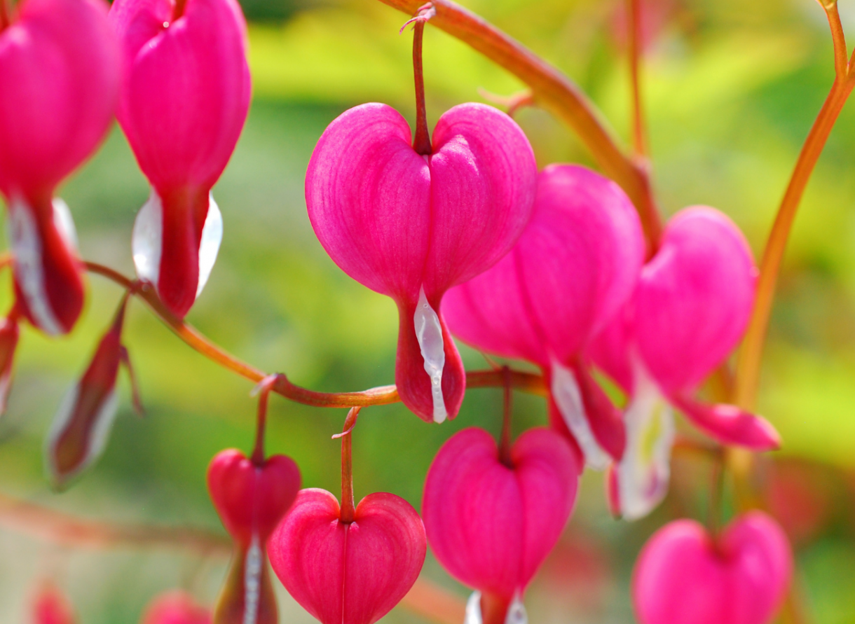
[[[237,449],[222,450],[208,467],[208,490],[228,533],[247,546],[263,544],[291,507],[300,470],[291,457],[274,455],[257,466]]]

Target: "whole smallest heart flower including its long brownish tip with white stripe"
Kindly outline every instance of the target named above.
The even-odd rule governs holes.
[[[276,624],[276,599],[266,544],[300,489],[300,470],[284,455],[252,462],[236,449],[222,450],[208,467],[208,491],[235,553],[214,610],[218,624]]]

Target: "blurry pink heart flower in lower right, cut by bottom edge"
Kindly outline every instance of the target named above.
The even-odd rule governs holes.
[[[641,624],[767,624],[792,573],[787,538],[769,515],[742,515],[716,538],[698,522],[678,520],[641,551],[635,613]]]

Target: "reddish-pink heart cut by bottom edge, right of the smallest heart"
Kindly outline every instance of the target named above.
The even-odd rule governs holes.
[[[428,545],[403,498],[377,492],[339,521],[329,492],[303,490],[268,542],[270,563],[292,597],[322,624],[373,624],[416,582]]]

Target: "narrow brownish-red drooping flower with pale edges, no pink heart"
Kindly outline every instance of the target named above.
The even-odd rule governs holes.
[[[119,365],[124,363],[128,370],[131,368],[127,350],[121,344],[126,305],[127,295],[98,343],[85,373],[66,392],[50,425],[44,444],[44,462],[57,488],[65,486],[95,462],[107,445],[119,405],[115,391]],[[133,395],[135,407],[141,410],[135,385]]]

